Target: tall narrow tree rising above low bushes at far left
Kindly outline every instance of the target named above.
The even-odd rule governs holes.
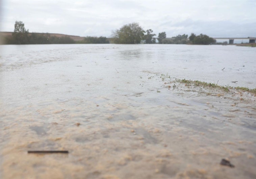
[[[15,44],[28,44],[28,30],[25,29],[24,23],[22,21],[16,21],[14,25],[14,33],[12,37]]]

